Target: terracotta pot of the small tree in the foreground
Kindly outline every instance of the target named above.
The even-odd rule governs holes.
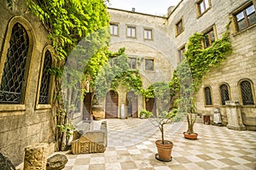
[[[159,161],[172,161],[172,142],[165,140],[165,144],[162,144],[162,140],[156,140],[155,145],[157,147],[158,154],[155,154],[155,158]]]

